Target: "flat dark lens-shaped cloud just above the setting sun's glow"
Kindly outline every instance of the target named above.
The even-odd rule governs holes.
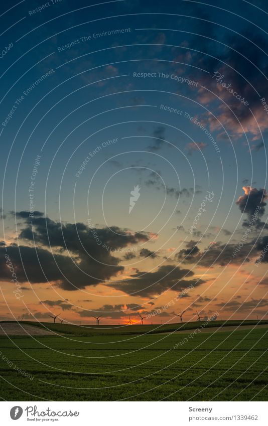
[[[181,292],[190,285],[197,287],[205,281],[193,278],[190,269],[181,269],[176,265],[162,265],[155,272],[139,271],[127,280],[111,282],[109,287],[128,295],[140,297],[159,296],[167,290]],[[192,279],[186,279],[190,278]]]

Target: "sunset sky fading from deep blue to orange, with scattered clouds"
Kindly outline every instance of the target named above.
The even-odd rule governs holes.
[[[267,14],[1,5],[1,320],[267,318]]]

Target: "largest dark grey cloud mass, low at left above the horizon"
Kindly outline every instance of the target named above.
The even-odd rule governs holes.
[[[29,215],[25,217],[25,212],[19,212],[17,216],[26,221],[20,238],[36,245],[7,247],[18,280],[57,281],[65,290],[96,286],[124,269],[119,265],[120,259],[112,256],[112,252],[103,248],[102,244],[105,244],[105,247],[122,248],[149,239],[143,232],[133,235],[118,227],[96,228],[94,232],[101,241],[101,245],[98,245],[92,229],[83,223],[63,224],[42,215],[29,218]],[[0,280],[10,280],[10,271],[4,259],[4,245],[0,246],[1,251],[3,255],[0,259]]]

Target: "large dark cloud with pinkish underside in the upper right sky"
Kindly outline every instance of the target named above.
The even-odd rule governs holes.
[[[202,43],[200,37],[198,42]],[[205,40],[204,44],[207,45],[206,48],[210,46],[210,51],[216,48],[215,58],[204,54],[197,54],[194,58],[195,64],[210,72],[209,75],[200,76],[198,99],[204,104],[218,102],[215,117],[209,114],[206,117],[211,130],[222,130],[219,123],[224,122],[225,128],[231,132],[231,138],[239,137],[245,132],[252,134],[256,140],[261,137],[260,131],[267,128],[267,115],[258,95],[259,93],[261,97],[268,98],[268,82],[259,71],[268,68],[268,60],[263,56],[263,51],[268,49],[267,38],[257,31],[252,34],[251,29],[248,29],[240,37],[235,35],[226,38],[225,43],[230,46],[229,49],[221,49],[218,45],[216,48],[213,42],[211,44]],[[237,99],[216,78],[212,78],[215,72],[222,76],[221,82],[244,98],[248,105]],[[218,101],[216,95],[223,102]]]

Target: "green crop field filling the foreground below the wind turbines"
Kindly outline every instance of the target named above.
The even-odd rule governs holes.
[[[233,323],[239,322],[225,325]],[[268,328],[199,333],[189,339],[198,323],[183,325],[190,330],[185,334],[156,334],[156,326],[45,326],[64,336],[0,338],[3,399],[267,400]],[[180,327],[170,324],[160,331]],[[186,343],[173,348],[185,338]]]

